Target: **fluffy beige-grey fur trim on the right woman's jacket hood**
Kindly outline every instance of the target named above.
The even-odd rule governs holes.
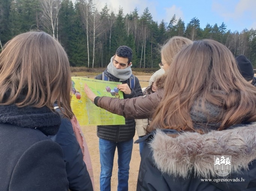
[[[231,172],[256,159],[256,123],[206,134],[182,132],[173,138],[157,130],[150,143],[155,165],[172,176],[216,177],[214,155],[231,155]]]

